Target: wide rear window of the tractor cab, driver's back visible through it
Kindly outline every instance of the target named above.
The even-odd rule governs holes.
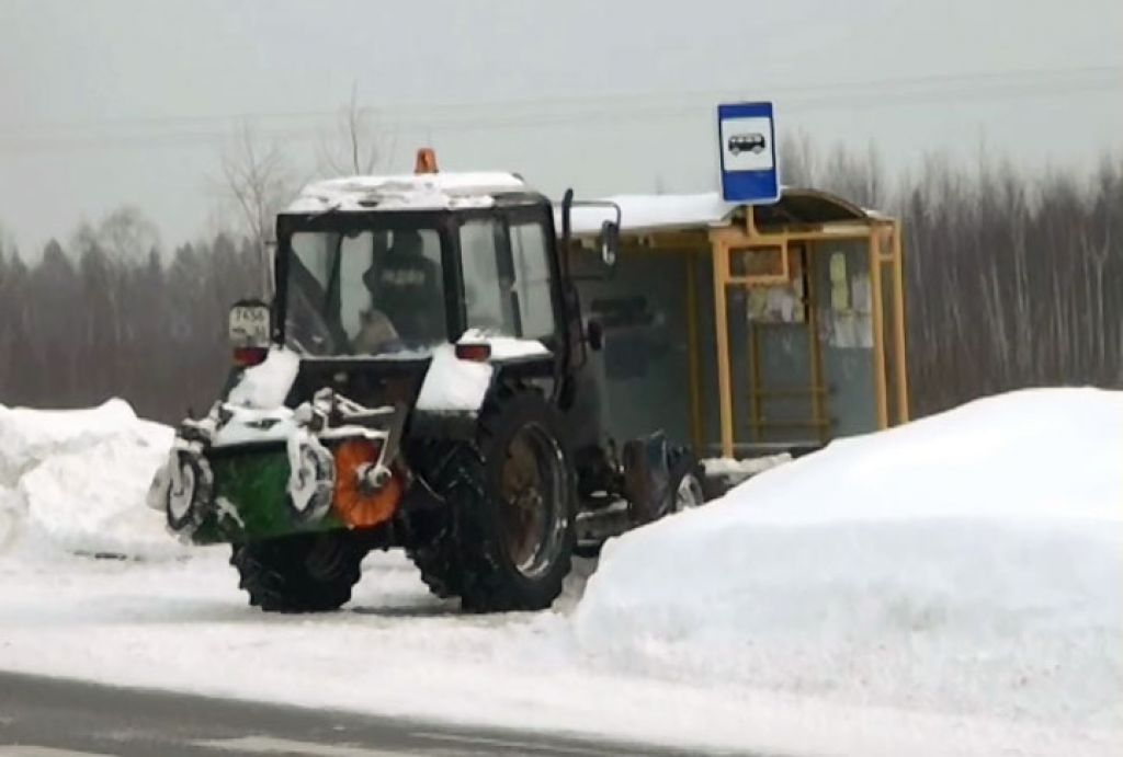
[[[296,231],[285,335],[309,354],[386,354],[447,341],[435,229]]]

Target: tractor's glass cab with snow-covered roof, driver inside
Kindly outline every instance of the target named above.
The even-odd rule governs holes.
[[[551,206],[513,175],[313,184],[277,241],[279,335],[310,357],[423,353],[468,330],[564,340]]]

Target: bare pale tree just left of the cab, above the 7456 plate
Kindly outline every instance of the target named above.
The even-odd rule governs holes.
[[[261,260],[261,294],[273,294],[270,247],[277,211],[292,196],[292,169],[281,146],[264,144],[245,123],[222,154],[222,175],[241,216],[243,231]]]

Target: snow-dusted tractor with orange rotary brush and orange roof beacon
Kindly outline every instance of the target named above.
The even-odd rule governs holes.
[[[275,294],[231,308],[226,389],[180,425],[149,504],[230,544],[250,604],[279,612],[339,608],[391,547],[466,611],[548,608],[574,554],[702,504],[690,450],[603,422],[579,283],[611,276],[620,211],[579,241],[583,204],[429,150],[414,174],[305,187],[276,219]]]

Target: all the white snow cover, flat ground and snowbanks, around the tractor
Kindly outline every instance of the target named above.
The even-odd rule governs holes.
[[[833,444],[610,543],[554,611],[491,617],[381,553],[343,612],[252,610],[226,551],[143,504],[167,434],[0,409],[0,668],[694,748],[1123,749],[1123,394]]]

